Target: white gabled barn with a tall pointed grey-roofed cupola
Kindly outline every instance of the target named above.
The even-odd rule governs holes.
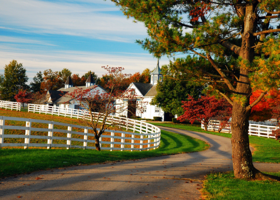
[[[132,82],[127,88],[127,91],[139,97],[136,101],[128,100],[127,98],[116,100],[116,115],[128,118],[135,115],[145,119],[161,117],[162,121],[171,121],[172,115],[170,113],[165,113],[160,107],[150,104],[152,98],[157,94],[157,82],[162,82],[163,79],[161,69],[159,68],[159,61],[157,62],[157,67],[150,75],[151,83]]]

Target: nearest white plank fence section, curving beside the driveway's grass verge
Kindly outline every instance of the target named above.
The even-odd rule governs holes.
[[[5,121],[13,120],[13,121],[21,121],[25,122],[25,126],[11,126],[5,125]],[[159,147],[161,132],[160,129],[152,124],[148,124],[145,122],[134,120],[134,126],[128,126],[132,130],[138,130],[140,133],[136,132],[125,132],[125,131],[117,131],[117,130],[105,130],[105,132],[111,133],[110,135],[102,134],[99,142],[101,149],[106,150],[149,150],[155,149]],[[36,128],[32,127],[32,123],[43,123],[48,124],[48,128]],[[67,130],[57,129],[54,126],[66,126]],[[139,127],[138,127],[139,126]],[[73,128],[83,129],[84,132],[78,132],[73,130]],[[66,129],[66,128],[65,128]],[[5,130],[25,130],[25,134],[5,134]],[[35,120],[35,119],[28,119],[28,118],[17,118],[17,117],[6,117],[0,116],[0,147],[7,147],[7,146],[24,146],[25,148],[28,147],[66,147],[68,148],[83,148],[83,149],[95,149],[95,140],[88,139],[89,136],[94,137],[93,133],[89,133],[89,130],[92,130],[91,127],[88,126],[79,126],[74,124],[65,124],[61,122],[54,122],[54,121],[47,121],[47,120]],[[32,135],[33,131],[40,131],[48,133],[48,136],[42,135]],[[55,133],[67,133],[67,137],[57,137],[53,136]],[[121,136],[116,136],[116,133],[121,133]],[[83,137],[77,138],[78,136]],[[4,142],[5,138],[25,138],[24,143],[8,143]],[[110,138],[110,141],[104,141],[103,138]],[[32,143],[31,139],[44,139],[47,142],[45,143]],[[103,139],[103,140],[102,140]],[[66,144],[57,144],[54,143],[53,140],[66,140]],[[144,141],[147,140],[147,143]],[[73,145],[73,141],[83,142],[83,145]],[[135,141],[140,141],[140,143],[136,143]],[[110,147],[102,146],[104,144],[110,144]],[[117,147],[118,145],[120,147]],[[139,145],[139,148],[135,147]],[[109,145],[107,145],[109,146]],[[128,147],[129,146],[129,147]],[[144,147],[145,146],[145,147]]]

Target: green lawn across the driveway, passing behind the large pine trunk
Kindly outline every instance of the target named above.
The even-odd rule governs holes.
[[[229,133],[218,133],[205,131],[197,124],[174,124],[174,123],[151,123],[156,126],[165,126],[171,128],[179,128],[183,130],[203,132],[213,135],[231,138]],[[253,162],[261,163],[280,163],[280,142],[273,138],[265,138],[258,136],[249,136],[250,145],[253,146]]]

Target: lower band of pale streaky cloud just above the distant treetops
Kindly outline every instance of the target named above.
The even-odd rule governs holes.
[[[73,74],[83,75],[89,70],[98,76],[106,73],[101,66],[123,67],[124,73],[134,74],[142,72],[145,68],[152,70],[157,65],[157,60],[150,54],[111,53],[104,54],[78,51],[29,51],[28,49],[9,48],[0,45],[0,74],[4,73],[4,66],[12,60],[22,63],[27,70],[29,81],[37,72],[46,69],[60,71],[68,68]],[[163,58],[160,65],[168,64],[169,60]]]

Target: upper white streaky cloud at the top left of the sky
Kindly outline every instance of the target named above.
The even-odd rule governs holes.
[[[0,23],[5,29],[14,28],[29,33],[75,35],[112,41],[134,42],[129,36],[146,36],[143,24],[128,21],[121,11],[117,12],[118,15],[110,11],[118,11],[118,8],[112,2],[103,0],[94,1],[94,4],[9,0],[1,3]]]

